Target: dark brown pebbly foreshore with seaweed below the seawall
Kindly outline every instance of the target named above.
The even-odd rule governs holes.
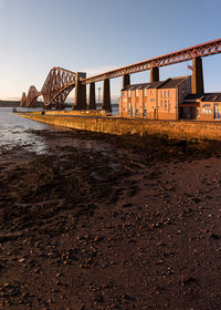
[[[0,309],[221,309],[221,144],[34,134],[0,158]]]

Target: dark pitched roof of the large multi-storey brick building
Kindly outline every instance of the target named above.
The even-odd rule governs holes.
[[[131,84],[124,87],[122,91],[144,90],[144,89],[173,89],[181,82],[187,80],[188,76],[172,78],[161,82]]]

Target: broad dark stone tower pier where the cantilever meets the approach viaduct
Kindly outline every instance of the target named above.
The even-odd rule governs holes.
[[[81,73],[82,78],[82,73]],[[85,74],[86,78],[86,74]],[[82,85],[80,74],[76,73],[74,110],[86,110],[86,85]]]

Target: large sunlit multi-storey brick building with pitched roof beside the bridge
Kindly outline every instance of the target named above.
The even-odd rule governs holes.
[[[190,93],[191,76],[128,85],[122,90],[119,116],[179,120],[179,106]]]

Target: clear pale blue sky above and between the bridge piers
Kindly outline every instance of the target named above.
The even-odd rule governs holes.
[[[0,0],[0,99],[41,90],[54,65],[90,75],[221,38],[220,12],[220,0]],[[221,92],[221,54],[203,71],[206,91]],[[187,63],[160,69],[186,74]],[[112,80],[114,95],[120,86]]]

